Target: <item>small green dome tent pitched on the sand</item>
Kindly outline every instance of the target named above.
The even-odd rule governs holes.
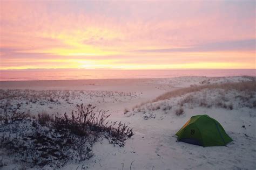
[[[200,146],[225,146],[232,141],[220,123],[208,115],[192,116],[176,135],[178,141]]]

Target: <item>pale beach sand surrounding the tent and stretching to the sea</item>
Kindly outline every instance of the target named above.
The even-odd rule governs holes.
[[[80,164],[69,162],[62,169],[255,169],[256,133],[255,108],[243,106],[226,95],[232,102],[232,110],[213,105],[201,107],[195,103],[184,105],[184,114],[177,116],[179,101],[186,96],[171,100],[148,103],[167,91],[203,84],[252,81],[254,78],[237,77],[175,77],[170,79],[116,79],[116,80],[56,80],[56,81],[2,81],[0,89],[11,89],[19,94],[16,98],[0,101],[22,105],[23,111],[37,115],[41,112],[71,112],[76,104],[93,104],[99,109],[109,110],[111,121],[126,122],[135,132],[126,140],[124,147],[113,146],[102,139],[93,146],[95,154]],[[255,79],[254,79],[255,81]],[[15,90],[16,89],[16,90]],[[26,97],[24,91],[27,89]],[[204,93],[204,92],[200,92]],[[193,94],[200,98],[203,94]],[[205,92],[211,96],[219,91]],[[222,92],[221,92],[222,93]],[[68,97],[63,97],[69,94]],[[51,100],[52,98],[52,100]],[[212,96],[214,102],[214,95]],[[251,100],[255,100],[255,93]],[[53,102],[52,102],[53,101]],[[25,104],[28,102],[28,104]],[[35,103],[33,103],[35,102]],[[245,102],[246,103],[246,102]],[[248,102],[247,102],[248,103]],[[240,104],[240,105],[239,105]],[[171,105],[171,109],[164,109]],[[159,106],[159,108],[158,108]],[[129,110],[124,114],[124,109]],[[1,110],[0,110],[1,111]],[[207,114],[219,121],[228,135],[233,138],[224,146],[201,147],[177,142],[174,134],[194,115]],[[245,125],[245,128],[242,126]],[[246,135],[245,135],[246,134]],[[6,161],[8,158],[4,158]],[[18,167],[10,164],[4,169]]]

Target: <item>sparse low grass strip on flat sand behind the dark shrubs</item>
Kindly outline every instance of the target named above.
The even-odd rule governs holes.
[[[29,110],[33,113],[56,108],[70,107],[80,101],[81,103],[115,103],[130,101],[140,94],[125,93],[122,91],[102,90],[22,90],[22,89],[0,89],[0,112],[11,112],[15,105],[21,104],[21,110]]]

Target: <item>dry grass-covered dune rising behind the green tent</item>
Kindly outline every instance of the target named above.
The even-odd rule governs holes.
[[[155,118],[156,111],[180,116],[185,114],[183,108],[193,109],[223,108],[228,110],[256,107],[256,83],[229,82],[223,84],[207,84],[192,86],[165,93],[155,100],[142,103],[133,108],[135,112],[142,112],[144,119]]]

